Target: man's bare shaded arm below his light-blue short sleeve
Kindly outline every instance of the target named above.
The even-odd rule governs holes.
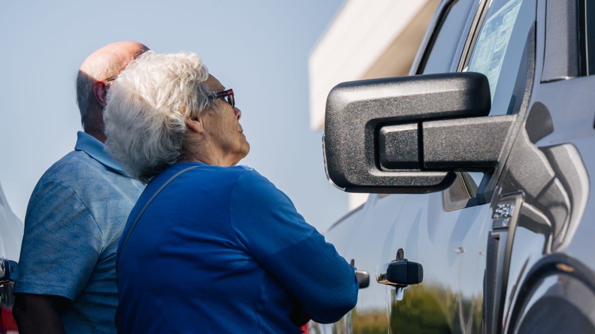
[[[71,306],[72,301],[61,296],[17,294],[12,314],[21,334],[64,334],[60,314]]]

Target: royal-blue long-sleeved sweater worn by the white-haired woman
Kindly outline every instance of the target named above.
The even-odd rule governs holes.
[[[118,247],[120,333],[299,333],[355,306],[353,267],[268,179],[246,166],[177,163],[159,174]],[[124,239],[124,238],[123,238]]]

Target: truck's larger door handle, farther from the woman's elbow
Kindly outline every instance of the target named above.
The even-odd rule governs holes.
[[[417,262],[392,261],[376,267],[376,281],[388,285],[412,285],[424,280],[424,267]]]

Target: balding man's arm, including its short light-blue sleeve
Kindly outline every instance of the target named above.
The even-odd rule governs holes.
[[[64,171],[64,174],[74,174]],[[89,227],[90,226],[90,227]],[[99,258],[95,220],[71,188],[40,181],[25,215],[13,313],[20,333],[64,333],[62,312],[73,307]]]

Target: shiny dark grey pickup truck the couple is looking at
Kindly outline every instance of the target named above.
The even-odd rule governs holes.
[[[595,333],[595,1],[444,0],[407,77],[338,84],[325,234],[357,306],[312,333]],[[365,279],[369,278],[369,284]]]

